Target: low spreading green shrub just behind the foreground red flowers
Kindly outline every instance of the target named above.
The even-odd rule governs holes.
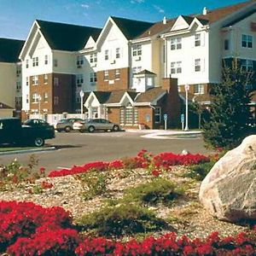
[[[104,207],[84,215],[79,224],[84,230],[94,230],[99,236],[125,236],[162,230],[166,222],[154,212],[134,204]]]

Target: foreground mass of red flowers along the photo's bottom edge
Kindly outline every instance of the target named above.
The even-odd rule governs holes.
[[[175,233],[139,242],[81,238],[72,217],[61,207],[44,208],[28,202],[0,202],[0,247],[11,255],[255,255],[256,232],[204,240]]]

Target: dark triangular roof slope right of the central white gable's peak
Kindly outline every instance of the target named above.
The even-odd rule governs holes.
[[[139,35],[145,32],[150,26],[154,25],[154,23],[140,20],[129,20],[113,16],[111,16],[111,18],[119,27],[120,31],[123,32],[125,38],[127,38],[128,40],[137,38]]]

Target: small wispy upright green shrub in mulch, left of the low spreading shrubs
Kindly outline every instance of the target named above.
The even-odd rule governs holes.
[[[84,188],[84,200],[93,199],[96,195],[103,195],[107,191],[109,173],[90,170],[76,176]]]

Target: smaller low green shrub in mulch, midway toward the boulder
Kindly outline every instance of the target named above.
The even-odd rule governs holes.
[[[159,203],[170,205],[173,200],[182,194],[182,189],[177,189],[174,183],[159,177],[151,182],[142,183],[135,188],[126,189],[123,201],[149,205]]]

